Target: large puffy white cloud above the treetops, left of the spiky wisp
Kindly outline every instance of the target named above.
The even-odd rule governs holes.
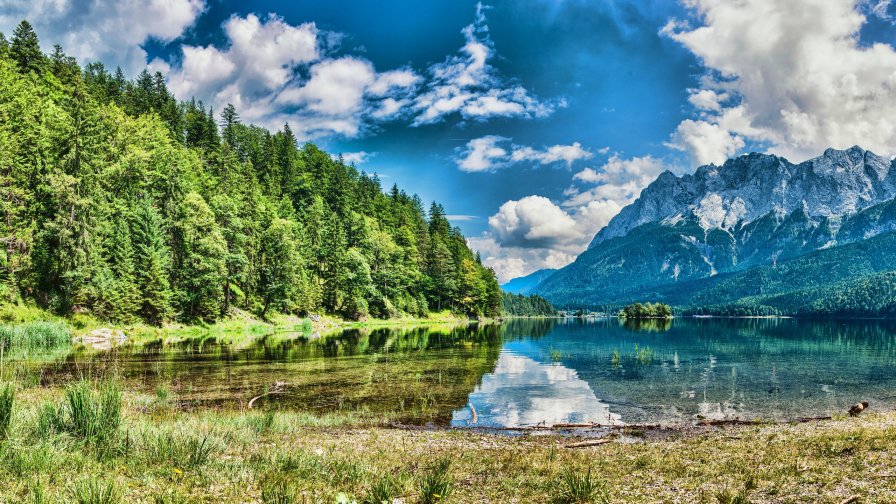
[[[182,46],[167,65],[168,83],[182,99],[215,108],[232,103],[242,118],[269,128],[290,122],[301,139],[357,136],[366,121],[394,118],[420,80],[410,69],[378,72],[360,57],[331,57],[333,34],[314,23],[291,25],[276,15],[233,16],[226,46]]]

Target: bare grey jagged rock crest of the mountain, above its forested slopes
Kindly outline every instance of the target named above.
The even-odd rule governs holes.
[[[859,146],[827,149],[794,164],[751,153],[693,174],[664,172],[598,232],[590,247],[648,222],[694,218],[704,229],[733,229],[764,215],[836,217],[896,196],[894,163]]]

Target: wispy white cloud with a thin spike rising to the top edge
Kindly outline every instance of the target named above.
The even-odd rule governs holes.
[[[519,84],[509,83],[489,64],[495,55],[488,36],[482,3],[476,20],[462,33],[466,43],[460,54],[432,65],[422,93],[413,100],[413,124],[428,124],[459,114],[465,119],[489,117],[544,117],[564,101],[541,101]]]

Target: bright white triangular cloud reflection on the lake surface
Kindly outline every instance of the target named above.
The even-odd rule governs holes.
[[[575,370],[538,362],[508,344],[495,370],[482,377],[467,407],[454,411],[457,427],[525,427],[558,423],[621,423]],[[475,409],[475,413],[474,413]]]

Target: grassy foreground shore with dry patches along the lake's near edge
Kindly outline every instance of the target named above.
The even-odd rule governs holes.
[[[96,413],[115,403],[108,390],[116,387],[16,391],[14,428],[0,443],[0,502],[896,501],[896,413],[647,432],[569,449],[559,436],[399,430],[291,411],[147,409],[152,391],[124,391],[120,424],[109,421],[115,434],[104,443],[73,430],[41,432],[42,412],[73,396],[90,403],[88,418],[114,417]]]

